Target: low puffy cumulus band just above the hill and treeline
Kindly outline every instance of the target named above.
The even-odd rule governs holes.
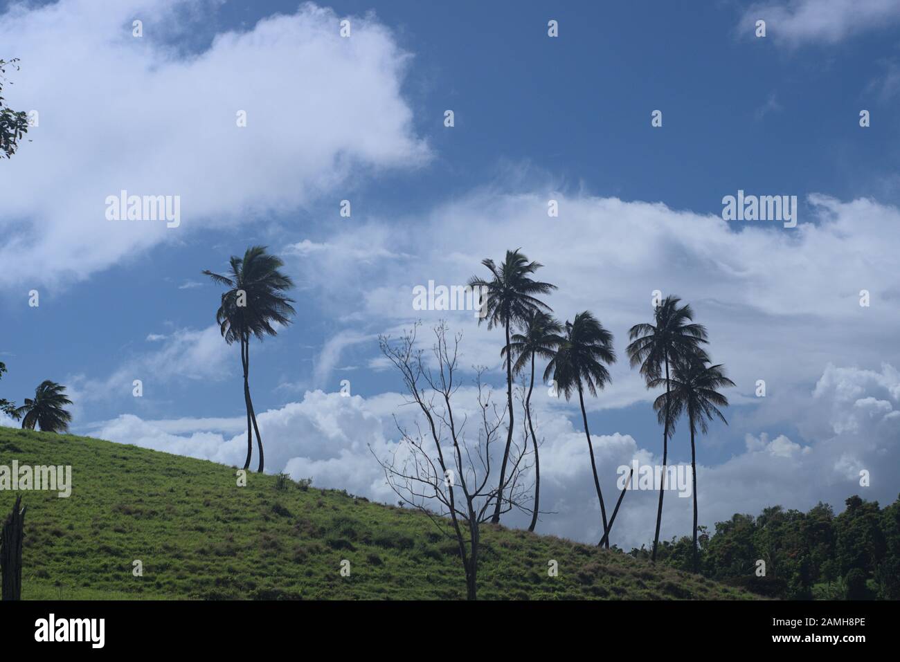
[[[804,420],[821,421],[813,436],[795,441],[785,434],[770,439],[767,433],[746,435],[746,451],[717,466],[698,466],[700,523],[712,526],[734,513],[759,514],[769,505],[808,509],[823,500],[841,509],[851,494],[891,502],[896,498],[900,466],[900,379],[891,366],[882,371],[862,371],[829,366],[797,411]],[[500,385],[502,390],[502,384]],[[860,396],[847,398],[848,392]],[[887,403],[858,407],[874,398]],[[373,398],[341,397],[339,393],[308,391],[293,402],[258,416],[266,444],[268,470],[286,471],[294,479],[312,477],[321,488],[347,489],[352,493],[393,503],[396,497],[385,484],[382,470],[370,452],[387,457],[398,448],[401,425],[410,425],[413,407],[400,407],[397,393]],[[460,413],[473,413],[473,389],[461,389]],[[599,505],[594,492],[583,430],[565,412],[536,401],[536,421],[541,445],[542,510],[538,531],[580,541],[598,541],[601,532]],[[854,425],[847,425],[849,418]],[[176,421],[142,421],[120,416],[96,425],[96,436],[121,443],[136,443],[160,451],[243,466],[247,448],[245,422],[240,418]],[[205,430],[205,431],[204,431]],[[215,431],[215,432],[213,432]],[[225,431],[225,432],[222,432]],[[677,433],[672,444],[687,443]],[[661,461],[658,440],[636,439],[632,434],[592,434],[600,481],[608,507],[617,498],[617,469],[632,460],[652,465]],[[652,447],[648,448],[648,446]],[[871,486],[860,486],[860,470],[871,474]],[[617,518],[614,541],[623,547],[652,541],[657,494],[630,491]],[[665,502],[662,535],[690,532],[691,499],[675,491]],[[510,514],[504,523],[527,525],[527,515]]]

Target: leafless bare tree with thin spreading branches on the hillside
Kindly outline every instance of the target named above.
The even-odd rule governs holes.
[[[507,409],[491,398],[491,387],[482,381],[483,368],[475,368],[477,416],[458,412],[455,402],[461,384],[457,378],[457,358],[462,334],[448,338],[446,324],[435,327],[432,347],[435,367],[429,367],[426,354],[416,344],[419,324],[392,343],[379,337],[384,355],[397,367],[408,392],[407,404],[418,407],[414,430],[394,416],[401,443],[390,457],[375,459],[382,466],[388,485],[408,504],[428,517],[459,547],[465,570],[466,595],[477,598],[478,561],[481,525],[491,520],[491,505],[502,496],[502,513],[530,500],[524,482],[527,466],[527,439],[513,443],[508,471],[502,485],[491,484],[491,444],[498,440]],[[455,415],[455,409],[457,414]],[[467,426],[473,428],[467,430]],[[370,447],[371,450],[371,447]],[[373,452],[374,454],[374,452]]]

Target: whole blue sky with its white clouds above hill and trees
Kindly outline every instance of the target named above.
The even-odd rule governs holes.
[[[75,396],[76,433],[240,461],[238,351],[211,329],[219,291],[200,272],[263,244],[298,283],[294,324],[253,348],[268,469],[387,498],[365,443],[395,441],[401,383],[375,336],[437,321],[414,314],[414,285],[464,282],[483,257],[522,246],[560,285],[549,303],[561,317],[591,309],[616,334],[613,387],[590,405],[608,480],[661,451],[652,394],[625,359],[626,330],[649,320],[658,288],[694,305],[738,383],[731,425],[700,444],[701,519],[770,502],[840,506],[860,492],[851,477],[875,466],[862,496],[896,497],[900,4],[61,0],[0,11],[0,57],[23,66],[5,96],[40,112],[32,142],[0,164],[3,397],[58,380]],[[346,17],[353,34],[341,40]],[[757,18],[766,38],[753,36]],[[101,202],[120,188],[179,194],[181,226],[111,224]],[[722,198],[738,189],[797,195],[799,227],[729,226]],[[344,199],[350,219],[338,215]],[[471,314],[449,320],[501,386],[501,332]],[[343,379],[359,398],[339,397]],[[560,471],[544,530],[590,540],[580,416],[540,406],[547,466]],[[671,453],[689,461],[683,438]],[[626,499],[628,544],[652,535],[644,496]]]

